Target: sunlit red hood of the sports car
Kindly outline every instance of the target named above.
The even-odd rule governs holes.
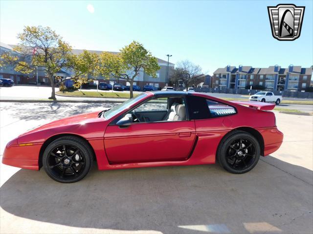
[[[98,114],[99,114],[99,111],[96,111],[96,112],[90,112],[87,114],[81,114],[81,115],[75,115],[75,116],[71,116],[71,117],[61,118],[59,120],[55,120],[55,121],[52,121],[50,123],[41,125],[41,126],[36,127],[34,129],[31,129],[31,130],[27,131],[26,133],[23,133],[19,137],[26,135],[26,134],[29,134],[29,133],[45,130],[45,129],[61,127],[61,126],[66,126],[66,125],[68,126],[68,125],[78,124],[78,123],[82,123],[82,122],[86,123],[86,122],[98,121],[99,120]]]

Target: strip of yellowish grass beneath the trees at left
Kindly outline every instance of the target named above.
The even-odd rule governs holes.
[[[96,91],[58,91],[59,95],[77,97],[77,98],[130,98],[129,93],[122,92],[96,92]],[[136,97],[138,94],[134,94]]]

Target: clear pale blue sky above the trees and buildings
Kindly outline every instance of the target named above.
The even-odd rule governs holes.
[[[267,6],[305,6],[301,36],[274,39]],[[0,41],[16,44],[25,25],[49,26],[75,49],[119,51],[137,40],[154,56],[188,59],[212,75],[226,65],[313,65],[313,0],[0,1]]]

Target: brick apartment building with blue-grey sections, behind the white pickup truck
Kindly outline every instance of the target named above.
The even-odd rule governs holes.
[[[312,68],[279,65],[268,68],[239,67],[227,65],[213,73],[213,88],[247,89],[250,86],[263,86],[271,91],[305,91],[310,87]]]

